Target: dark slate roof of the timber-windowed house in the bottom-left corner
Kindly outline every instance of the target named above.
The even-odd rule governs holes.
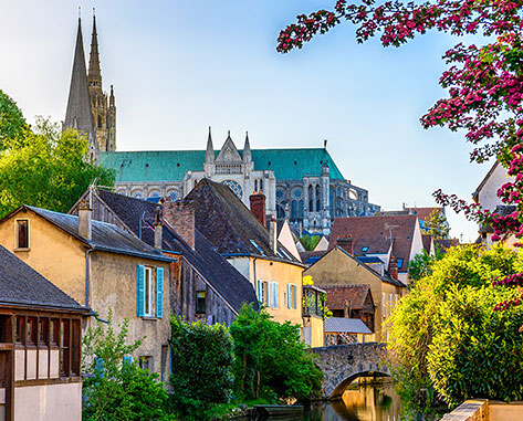
[[[62,290],[0,245],[0,305],[87,313]]]

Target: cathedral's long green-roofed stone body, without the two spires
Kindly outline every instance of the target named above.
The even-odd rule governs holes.
[[[249,196],[262,191],[269,214],[315,233],[330,233],[334,218],[379,211],[367,190],[342,176],[326,148],[251,149],[247,135],[240,152],[229,133],[215,150],[209,129],[206,150],[112,151],[100,158],[116,171],[116,192],[177,200],[209,178],[229,186],[248,207]]]

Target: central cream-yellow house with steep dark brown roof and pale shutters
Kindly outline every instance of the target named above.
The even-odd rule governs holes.
[[[302,326],[304,266],[278,241],[275,220],[266,221],[264,194],[250,196],[251,211],[229,187],[202,179],[184,203],[170,208],[170,220],[193,212],[197,230],[249,280],[274,319]]]

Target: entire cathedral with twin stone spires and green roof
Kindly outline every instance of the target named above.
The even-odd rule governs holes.
[[[326,149],[251,149],[245,134],[237,148],[230,131],[219,150],[211,129],[200,150],[116,151],[116,107],[111,86],[102,90],[96,20],[88,73],[79,20],[71,90],[63,128],[87,136],[90,154],[116,172],[115,191],[142,199],[182,199],[202,178],[227,185],[249,207],[249,196],[261,191],[266,212],[287,219],[296,230],[328,234],[334,218],[372,215],[380,210],[369,203],[367,190],[346,180]],[[203,146],[203,145],[202,145]]]

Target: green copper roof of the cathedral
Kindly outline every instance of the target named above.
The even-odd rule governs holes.
[[[218,151],[216,151],[218,155]],[[101,164],[116,170],[116,181],[175,181],[187,171],[203,171],[205,150],[157,150],[101,152]],[[252,149],[255,170],[273,170],[276,180],[320,176],[323,162],[332,179],[343,179],[336,164],[323,148]]]

